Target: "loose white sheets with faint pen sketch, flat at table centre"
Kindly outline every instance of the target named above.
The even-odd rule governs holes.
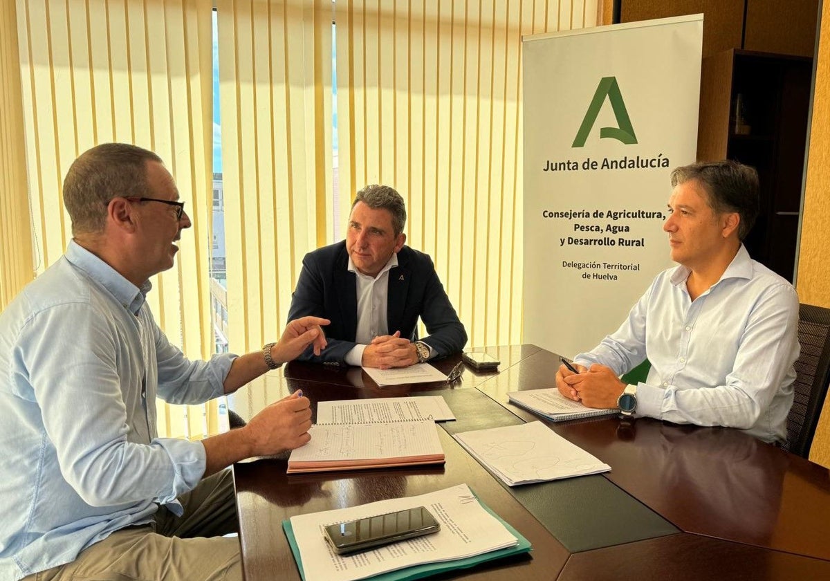
[[[456,434],[457,441],[510,486],[611,470],[542,422]]]

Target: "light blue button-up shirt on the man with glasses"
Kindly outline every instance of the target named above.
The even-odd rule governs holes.
[[[235,356],[186,359],[149,288],[71,242],[0,313],[0,579],[71,562],[158,504],[180,514],[202,478],[202,443],[159,438],[155,399],[222,395]]]

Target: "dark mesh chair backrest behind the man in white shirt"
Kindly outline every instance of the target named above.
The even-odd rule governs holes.
[[[830,382],[830,309],[799,306],[798,342],[801,353],[795,362],[795,396],[787,416],[784,449],[807,458]]]

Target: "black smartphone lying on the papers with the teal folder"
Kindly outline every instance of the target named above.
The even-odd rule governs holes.
[[[437,533],[441,524],[423,506],[325,527],[325,540],[337,554],[355,553]]]

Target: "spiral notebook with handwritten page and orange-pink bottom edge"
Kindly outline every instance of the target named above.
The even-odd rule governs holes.
[[[312,426],[288,473],[443,464],[438,429],[431,420]]]

